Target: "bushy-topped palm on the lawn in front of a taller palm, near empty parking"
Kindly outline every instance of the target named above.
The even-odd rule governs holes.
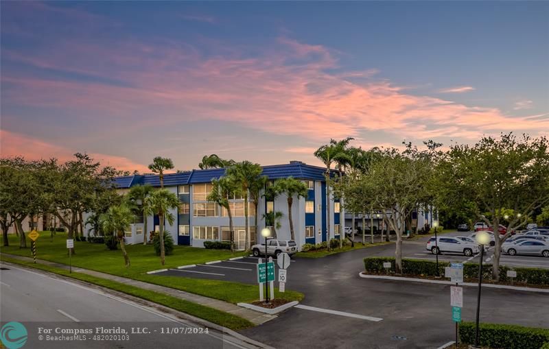
[[[145,197],[145,211],[147,215],[154,214],[159,216],[160,223],[160,263],[164,265],[165,251],[164,251],[164,219],[167,219],[168,223],[174,223],[174,215],[170,213],[171,209],[179,206],[179,198],[174,193],[171,193],[167,189],[160,189],[153,191],[151,195]]]

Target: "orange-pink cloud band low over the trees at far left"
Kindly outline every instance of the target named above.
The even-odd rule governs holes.
[[[28,160],[40,160],[42,158],[55,157],[58,158],[60,162],[73,159],[73,154],[78,152],[78,149],[69,150],[65,147],[60,147],[59,145],[54,145],[45,141],[40,141],[39,139],[33,139],[29,136],[6,130],[0,130],[0,149],[0,156],[2,158],[23,156]],[[124,158],[123,156],[97,153],[88,154],[104,166],[110,165],[122,171],[137,170],[141,173],[149,172],[148,167],[145,165],[135,163],[128,158]]]

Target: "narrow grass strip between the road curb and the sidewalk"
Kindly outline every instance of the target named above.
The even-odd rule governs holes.
[[[209,306],[204,306],[194,302],[189,302],[188,300],[182,300],[180,298],[172,297],[164,293],[148,291],[145,289],[140,289],[139,287],[126,285],[113,280],[106,280],[104,278],[97,278],[95,276],[82,274],[78,272],[69,273],[69,271],[67,271],[66,269],[51,267],[49,265],[43,265],[43,264],[34,264],[32,262],[21,261],[19,259],[10,258],[3,255],[0,255],[0,260],[9,262],[9,263],[14,263],[17,265],[22,265],[24,267],[40,269],[45,272],[66,276],[68,278],[74,278],[76,280],[89,282],[94,285],[98,285],[98,286],[106,287],[108,289],[113,289],[115,291],[126,293],[130,296],[143,298],[144,300],[149,300],[150,302],[161,304],[163,306],[167,306],[168,308],[172,308],[177,311],[182,311],[183,313],[187,313],[189,315],[200,317],[201,319],[207,320],[209,322],[213,322],[214,324],[218,324],[226,328],[231,328],[232,330],[241,330],[243,328],[249,328],[254,326],[253,323],[249,322],[248,320],[240,316],[226,313],[218,309],[213,309]]]

